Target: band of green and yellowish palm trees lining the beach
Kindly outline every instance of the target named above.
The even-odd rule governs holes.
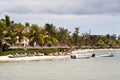
[[[29,40],[29,46],[69,46],[70,48],[119,48],[120,36],[91,35],[79,33],[79,27],[71,33],[64,27],[56,27],[46,23],[44,26],[26,22],[15,23],[10,16],[0,20],[0,48],[8,51],[10,46],[20,46],[22,39]]]

